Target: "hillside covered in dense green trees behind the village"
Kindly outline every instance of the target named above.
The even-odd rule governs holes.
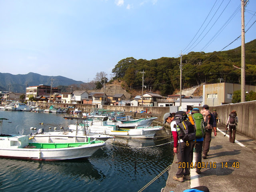
[[[256,40],[245,44],[246,84],[256,85]],[[241,48],[222,52],[190,52],[182,57],[182,89],[200,85],[203,82],[240,83]],[[130,89],[144,85],[152,91],[160,90],[162,95],[172,94],[180,89],[180,58],[136,60],[122,59],[112,70],[114,79],[124,80]]]

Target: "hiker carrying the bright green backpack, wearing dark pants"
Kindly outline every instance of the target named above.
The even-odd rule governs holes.
[[[195,146],[196,162],[193,163],[193,166],[196,165],[196,173],[200,174],[201,165],[202,165],[202,148],[203,148],[204,134],[206,129],[204,128],[204,116],[199,112],[199,109],[193,108],[191,111],[191,114],[192,114],[194,126],[196,128],[196,139],[191,143],[190,164],[191,162],[193,162],[193,150]]]

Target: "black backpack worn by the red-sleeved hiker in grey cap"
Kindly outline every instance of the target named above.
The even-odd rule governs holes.
[[[179,137],[184,141],[192,141],[196,138],[196,130],[194,125],[188,120],[188,116],[184,111],[176,112],[174,120],[177,124],[177,132]]]

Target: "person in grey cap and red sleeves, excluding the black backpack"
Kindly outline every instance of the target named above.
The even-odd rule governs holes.
[[[189,165],[189,157],[190,157],[190,145],[191,141],[188,142],[188,146],[182,139],[178,141],[178,132],[177,132],[177,124],[174,121],[175,113],[166,113],[164,114],[164,124],[166,122],[170,123],[171,131],[174,139],[174,148],[173,152],[177,154],[178,158],[178,172],[175,176],[173,176],[174,180],[179,182],[183,182],[184,179],[190,180],[190,165]],[[182,165],[182,162],[185,162],[185,165]]]

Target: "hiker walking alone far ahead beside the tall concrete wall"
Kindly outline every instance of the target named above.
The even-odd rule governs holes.
[[[232,112],[228,115],[228,121],[226,124],[226,130],[229,128],[229,142],[234,143],[236,140],[236,126],[238,123],[238,117],[236,115],[236,110],[232,110]]]

